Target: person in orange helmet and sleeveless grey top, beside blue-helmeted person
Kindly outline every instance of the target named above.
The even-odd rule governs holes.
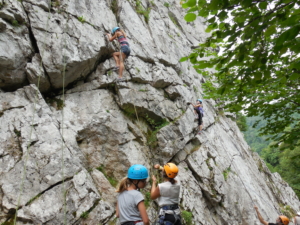
[[[162,170],[164,182],[156,186],[156,177],[152,176],[152,187],[150,197],[157,199],[159,209],[159,220],[157,225],[181,225],[179,209],[180,181],[175,179],[178,174],[178,167],[174,163],[167,163],[164,167],[159,164],[154,168]]]

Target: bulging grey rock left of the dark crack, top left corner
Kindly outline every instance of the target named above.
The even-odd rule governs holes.
[[[4,90],[28,84],[25,67],[34,55],[28,24],[19,1],[0,2],[0,88]]]

